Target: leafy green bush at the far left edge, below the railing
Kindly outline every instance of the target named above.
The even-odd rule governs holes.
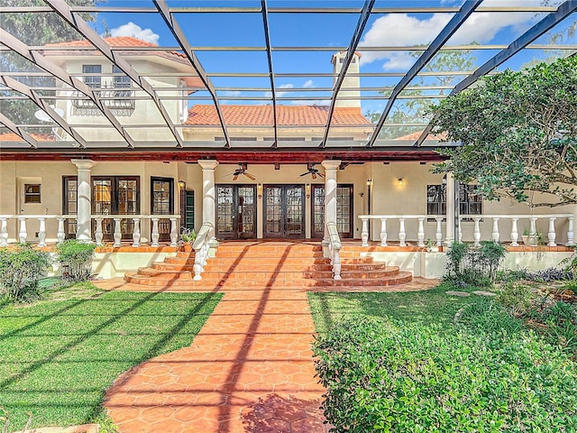
[[[0,284],[8,299],[25,302],[38,298],[38,281],[50,269],[50,254],[29,244],[0,249]]]

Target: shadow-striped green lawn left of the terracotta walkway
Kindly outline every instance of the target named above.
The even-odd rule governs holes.
[[[100,292],[82,284],[50,289],[52,300],[32,306],[0,304],[0,408],[10,430],[23,428],[29,412],[36,427],[102,418],[114,378],[190,345],[221,298]]]

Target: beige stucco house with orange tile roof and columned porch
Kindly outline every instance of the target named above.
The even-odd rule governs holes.
[[[359,53],[334,106],[216,105],[184,54],[129,37],[102,41],[117,63],[87,41],[39,51],[54,104],[41,101],[38,133],[12,125],[21,134],[0,134],[0,245],[76,236],[157,247],[203,223],[215,239],[326,240],[330,220],[341,238],[395,244],[388,260],[435,275],[438,267],[423,271],[419,252],[403,247],[447,244],[455,233],[515,245],[524,228],[546,234],[550,246],[573,244],[575,206],[529,215],[525,205],[486,202],[461,185],[455,219],[447,199],[454,181],[430,171],[438,137],[422,147],[408,145],[411,134],[364,148],[374,125],[362,115]],[[346,57],[332,57],[335,80]],[[30,88],[4,83],[34,99]]]

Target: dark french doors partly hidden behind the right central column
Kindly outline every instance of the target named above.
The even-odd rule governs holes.
[[[311,237],[325,235],[325,185],[313,184]],[[353,185],[336,187],[336,229],[343,238],[353,237]]]

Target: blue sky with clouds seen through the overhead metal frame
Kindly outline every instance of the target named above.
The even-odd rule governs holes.
[[[462,1],[442,0],[438,2],[377,1],[375,8],[394,6],[459,6]],[[300,7],[362,7],[362,1],[292,1],[269,2],[269,7],[300,6]],[[483,5],[539,5],[531,0],[485,0]],[[148,0],[118,2],[108,0],[106,6],[137,5],[153,7]],[[184,2],[170,1],[173,7],[184,6],[248,6],[260,7],[261,2],[252,0],[244,2]],[[435,38],[453,14],[373,14],[368,21],[359,50],[362,53],[361,72],[406,72],[416,60],[408,51],[362,51],[362,47],[371,46],[414,46],[424,45]],[[448,42],[455,44],[505,44],[514,41],[520,34],[541,20],[545,14],[536,13],[473,13],[459,31],[453,34]],[[274,51],[272,60],[274,71],[279,73],[332,73],[332,47],[348,46],[357,25],[358,14],[272,14],[270,13],[270,41],[273,47],[326,47],[327,51],[287,52]],[[160,46],[178,46],[160,14],[99,14],[100,20],[105,20],[113,36],[133,36],[142,41],[149,41]],[[256,14],[177,14],[176,19],[185,32],[192,46],[234,46],[263,47],[265,46],[262,28],[262,16]],[[556,30],[565,28],[577,20],[573,14]],[[102,25],[96,29],[102,30]],[[546,43],[545,38],[537,43]],[[573,37],[563,43],[577,43]],[[474,51],[475,64],[480,66],[489,60],[499,50]],[[269,70],[268,60],[264,51],[197,51],[206,72],[261,72]],[[549,54],[543,51],[523,51],[499,69],[510,67],[518,69],[533,58],[545,58]],[[362,87],[382,88],[394,85],[399,78],[362,78]],[[270,88],[269,78],[212,78],[218,88]],[[313,99],[283,101],[283,104],[326,104],[327,101],[315,100],[315,97],[329,96],[327,92],[319,92],[315,88],[331,88],[332,78],[320,77],[290,77],[276,78],[277,97],[311,97]],[[291,89],[301,89],[294,91]],[[280,90],[283,89],[283,90]],[[270,92],[249,92],[238,90],[223,90],[222,97],[270,97]],[[377,95],[375,91],[363,92],[363,95]],[[233,100],[229,103],[247,104],[251,101]],[[263,104],[266,101],[252,101]],[[386,103],[386,101],[385,101]],[[362,102],[363,112],[381,110],[382,101],[367,100]]]

